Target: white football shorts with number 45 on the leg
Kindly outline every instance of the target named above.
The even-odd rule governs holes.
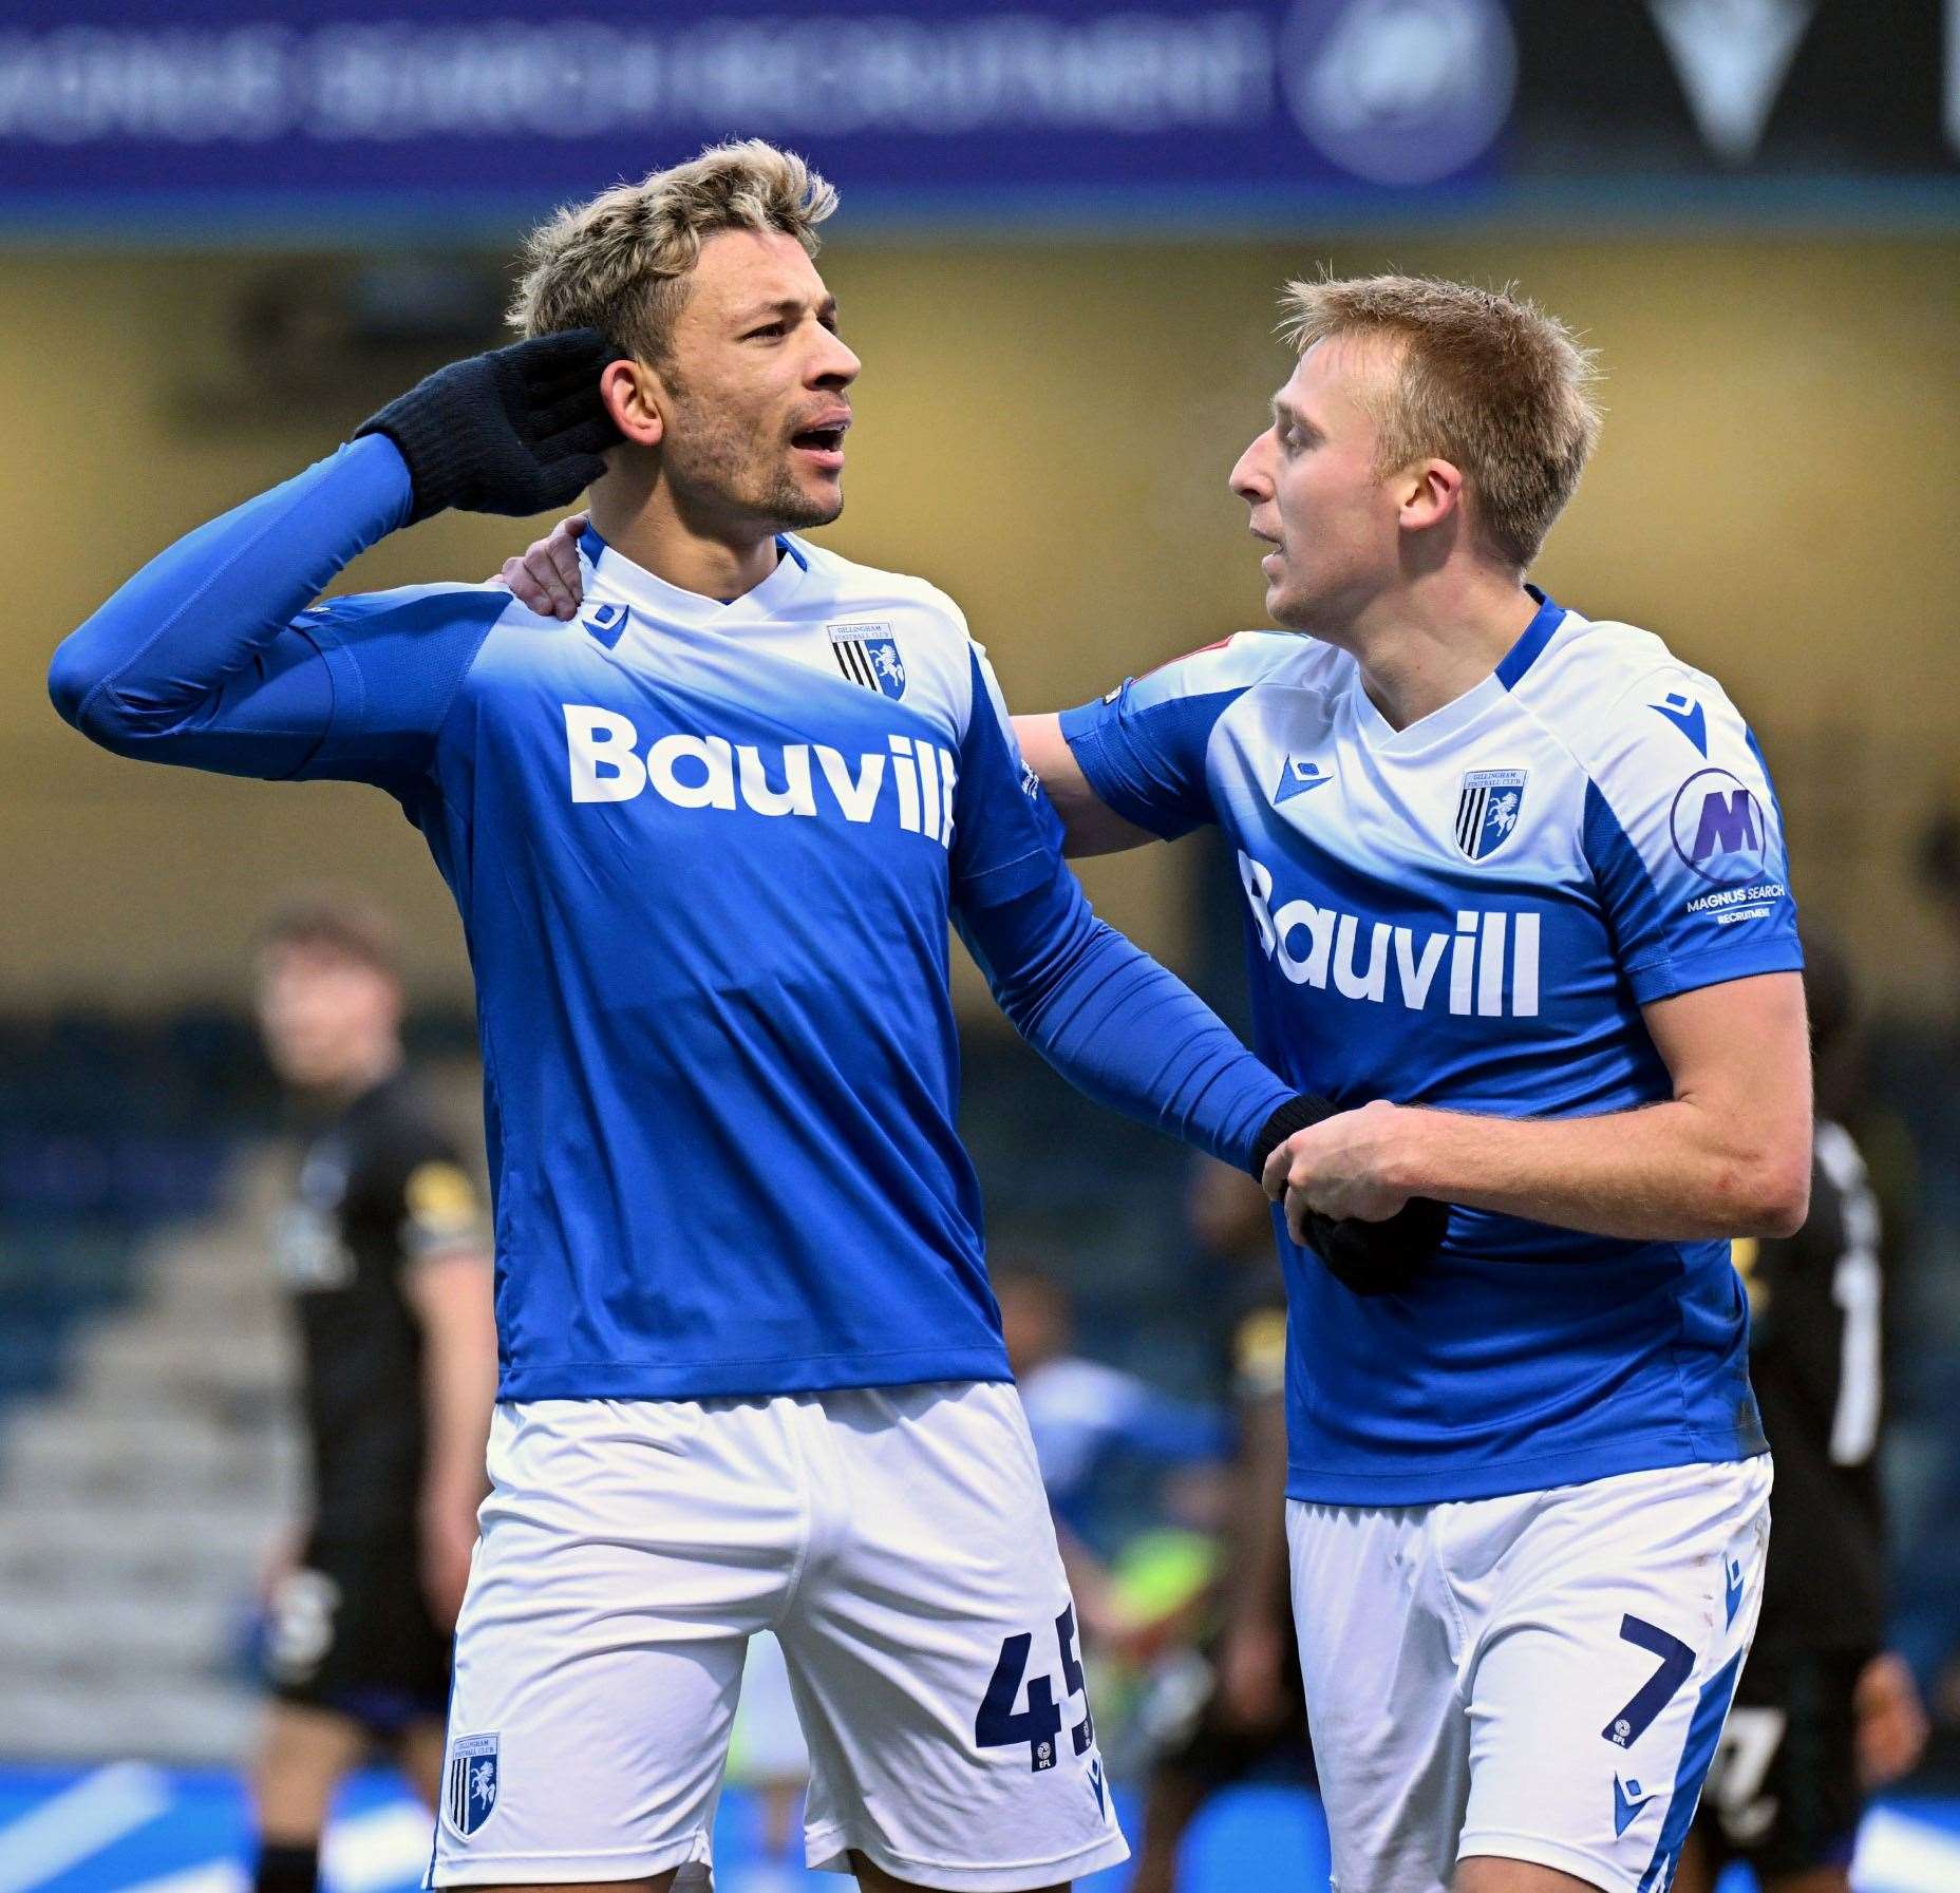
[[[804,1852],[1047,1887],[1129,1856],[1011,1385],[500,1405],[431,1887],[711,1885],[743,1652],[809,1744]]]

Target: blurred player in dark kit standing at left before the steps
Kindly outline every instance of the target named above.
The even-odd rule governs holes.
[[[288,905],[267,931],[257,1003],[310,1127],[276,1262],[312,1511],[270,1597],[255,1885],[314,1893],[333,1789],[370,1746],[392,1746],[435,1805],[496,1333],[476,1188],[404,1060],[386,919],[353,896]]]

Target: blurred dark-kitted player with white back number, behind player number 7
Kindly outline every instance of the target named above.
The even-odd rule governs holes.
[[[1882,1642],[1884,1240],[1864,1158],[1838,1121],[1856,1101],[1850,968],[1811,931],[1803,952],[1817,1048],[1811,1215],[1793,1237],[1735,1244],[1776,1452],[1776,1532],[1756,1650],[1680,1893],[1705,1893],[1731,1860],[1764,1893],[1846,1893],[1866,1789],[1905,1773],[1925,1742],[1913,1675]]]

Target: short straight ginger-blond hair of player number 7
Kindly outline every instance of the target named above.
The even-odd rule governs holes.
[[[1382,437],[1378,472],[1450,461],[1490,549],[1529,566],[1599,441],[1592,351],[1509,288],[1347,276],[1290,282],[1280,302],[1301,355],[1337,335],[1397,345],[1394,368],[1362,394]]]

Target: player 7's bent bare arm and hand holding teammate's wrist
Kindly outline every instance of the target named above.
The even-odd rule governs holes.
[[[1674,1097],[1601,1117],[1505,1119],[1370,1103],[1288,1139],[1266,1193],[1364,1219],[1411,1195],[1633,1240],[1788,1237],[1811,1178],[1803,982],[1758,974],[1642,1009]]]

